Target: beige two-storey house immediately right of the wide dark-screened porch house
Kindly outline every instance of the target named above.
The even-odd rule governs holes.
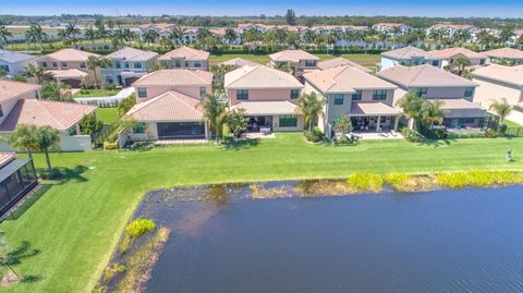
[[[226,74],[230,110],[244,109],[250,132],[268,125],[272,131],[303,131],[295,100],[303,85],[291,74],[265,65],[246,65]]]

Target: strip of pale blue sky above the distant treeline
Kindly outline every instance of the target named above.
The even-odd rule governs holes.
[[[282,15],[287,9],[297,15],[523,17],[523,0],[0,0],[0,14],[16,15],[241,16]]]

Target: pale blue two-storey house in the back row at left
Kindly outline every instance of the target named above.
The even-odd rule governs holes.
[[[147,74],[150,62],[158,56],[157,52],[144,51],[131,47],[122,48],[108,54],[112,66],[101,69],[101,81],[105,84],[130,86],[139,77]]]

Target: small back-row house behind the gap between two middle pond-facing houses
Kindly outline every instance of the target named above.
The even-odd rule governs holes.
[[[319,60],[304,50],[284,50],[269,54],[269,58],[271,68],[290,66],[296,76],[302,76],[307,70],[316,70]]]

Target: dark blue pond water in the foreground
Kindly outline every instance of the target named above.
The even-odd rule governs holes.
[[[141,206],[172,230],[146,292],[523,292],[522,186],[220,198]]]

